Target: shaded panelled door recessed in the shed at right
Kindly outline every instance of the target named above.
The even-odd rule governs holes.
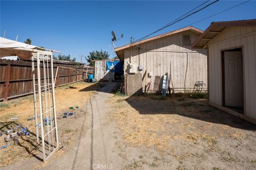
[[[225,105],[243,108],[242,52],[224,52]]]

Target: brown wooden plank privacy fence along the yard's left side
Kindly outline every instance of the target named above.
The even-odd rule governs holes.
[[[41,64],[40,67],[41,73],[43,73],[43,64]],[[71,62],[54,60],[53,69],[54,78],[57,76],[55,87],[83,80],[82,64],[75,65]],[[35,71],[37,81],[37,69],[35,69]],[[31,61],[0,59],[0,100],[6,101],[7,99],[25,96],[32,93],[33,78]]]

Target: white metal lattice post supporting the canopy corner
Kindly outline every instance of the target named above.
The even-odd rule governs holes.
[[[41,141],[42,143],[42,157],[43,161],[45,162],[59,147],[52,52],[36,50],[36,53],[33,53],[31,61],[33,73],[36,139],[37,142]],[[43,61],[43,63],[41,63],[41,61]],[[35,79],[36,73],[37,82]],[[36,95],[36,89],[38,91],[38,95]],[[39,132],[39,129],[41,132]]]

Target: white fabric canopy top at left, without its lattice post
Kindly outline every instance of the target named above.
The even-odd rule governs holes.
[[[42,50],[40,50],[42,49]],[[0,37],[0,57],[5,56],[19,56],[23,60],[28,60],[35,52],[51,53],[56,52],[50,49],[43,49],[41,47],[13,41],[10,39]],[[48,52],[46,52],[48,51]],[[60,53],[60,52],[57,52]]]

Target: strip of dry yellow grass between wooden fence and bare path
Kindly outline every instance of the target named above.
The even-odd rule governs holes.
[[[61,143],[61,150],[55,154],[56,157],[62,155],[65,149],[76,140],[78,132],[84,131],[84,129],[81,129],[81,126],[79,126],[86,116],[84,104],[90,96],[97,94],[95,90],[104,86],[103,84],[91,85],[92,83],[79,82],[55,89],[57,122]],[[9,100],[7,103],[0,103],[0,105],[0,132],[4,133],[6,130],[12,129],[20,124],[24,127],[29,126],[30,131],[30,135],[20,139],[19,145],[14,145],[13,142],[11,142],[9,147],[0,150],[0,167],[12,164],[24,158],[36,156],[39,147],[35,137],[35,121],[27,120],[29,117],[34,116],[33,96]],[[74,110],[69,109],[71,106],[74,107]],[[74,116],[62,118],[63,112],[65,111],[73,111]],[[18,120],[13,121],[12,117],[18,117]],[[6,145],[4,137],[5,134],[0,137],[0,146]]]

